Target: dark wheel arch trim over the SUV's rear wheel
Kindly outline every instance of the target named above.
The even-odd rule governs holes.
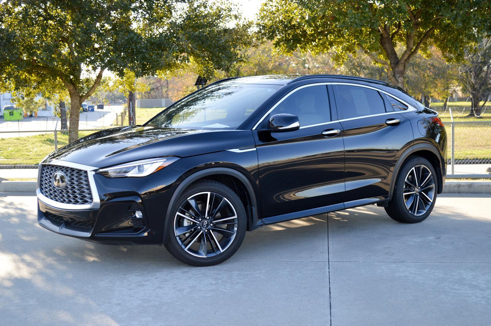
[[[403,163],[408,160],[410,156],[420,156],[430,161],[436,171],[436,178],[438,181],[437,193],[441,194],[441,192],[443,191],[443,161],[441,158],[441,154],[434,145],[429,143],[420,143],[412,145],[411,147],[409,147],[409,149],[405,150],[401,154],[401,156],[399,156],[399,159],[397,160],[397,163],[394,167],[392,179],[390,181],[390,196],[392,196],[392,193],[394,192],[396,178],[399,174],[399,170],[401,169]]]

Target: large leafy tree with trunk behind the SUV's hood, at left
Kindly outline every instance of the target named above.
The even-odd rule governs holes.
[[[139,77],[189,62],[203,71],[219,67],[247,42],[239,18],[207,0],[9,0],[0,6],[0,74],[59,80],[70,96],[73,142],[80,105],[105,70]]]

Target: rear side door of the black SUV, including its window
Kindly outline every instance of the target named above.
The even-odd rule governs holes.
[[[376,88],[342,83],[333,88],[344,130],[346,206],[387,198],[396,157],[413,140],[410,122]]]

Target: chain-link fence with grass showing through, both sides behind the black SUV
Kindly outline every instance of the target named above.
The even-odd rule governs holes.
[[[162,108],[137,108],[136,124],[145,123],[162,110]],[[453,119],[452,111],[451,107],[445,111],[449,113],[448,119],[445,119],[444,112],[440,112],[448,136],[447,175],[491,177],[491,119],[462,121],[463,119]],[[111,126],[128,125],[126,112],[126,110],[116,112],[113,120],[106,125],[83,124],[81,119],[79,137]],[[12,130],[11,126],[18,122],[9,122],[12,123],[10,127],[5,123],[0,124],[0,168],[32,167],[53,150],[68,144],[68,133],[66,130],[60,130],[57,118],[53,125],[38,119],[37,126],[43,124],[44,130],[27,129],[29,125],[21,126],[23,122],[19,122],[17,130]]]

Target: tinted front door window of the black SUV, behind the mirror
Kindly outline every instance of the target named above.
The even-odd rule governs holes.
[[[270,113],[289,113],[299,117],[300,126],[331,121],[327,86],[316,85],[300,88],[281,101]]]

